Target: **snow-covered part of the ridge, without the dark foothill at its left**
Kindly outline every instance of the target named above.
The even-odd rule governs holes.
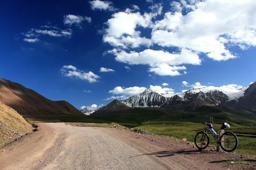
[[[196,108],[207,106],[218,106],[229,101],[239,101],[246,94],[248,87],[241,89],[231,89],[225,87],[200,87],[186,90],[181,94],[175,94],[172,97],[164,97],[153,90],[147,89],[137,96],[131,96],[122,101],[129,107],[135,108],[180,108],[195,110]]]

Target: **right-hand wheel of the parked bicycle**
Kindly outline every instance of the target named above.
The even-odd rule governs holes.
[[[232,152],[236,150],[238,145],[238,139],[236,134],[232,132],[224,132],[220,137],[220,147],[225,152]]]

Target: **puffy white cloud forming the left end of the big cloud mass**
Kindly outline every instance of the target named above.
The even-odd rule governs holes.
[[[152,24],[151,18],[152,15],[148,13],[141,15],[140,12],[132,13],[131,10],[115,13],[106,23],[108,28],[105,30],[103,41],[122,48],[151,46],[152,41],[141,37],[141,32],[135,30],[136,27],[148,27]]]

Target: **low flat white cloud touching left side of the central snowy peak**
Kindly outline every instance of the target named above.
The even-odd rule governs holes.
[[[127,87],[127,88],[118,86],[118,87],[115,87],[113,90],[109,90],[109,93],[119,94],[119,95],[122,94],[124,96],[134,96],[134,95],[140,94],[146,89],[147,89],[146,87],[137,87],[137,86]]]

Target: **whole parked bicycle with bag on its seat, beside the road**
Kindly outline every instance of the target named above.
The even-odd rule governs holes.
[[[220,147],[225,152],[232,152],[236,150],[238,145],[238,139],[236,134],[233,132],[225,132],[225,129],[230,127],[226,122],[222,123],[221,129],[218,133],[214,131],[212,128],[212,124],[204,122],[205,125],[204,131],[198,132],[195,136],[195,146],[199,150],[204,150],[209,145],[210,139],[209,135],[207,134],[208,131],[212,133],[216,144],[220,145]]]

